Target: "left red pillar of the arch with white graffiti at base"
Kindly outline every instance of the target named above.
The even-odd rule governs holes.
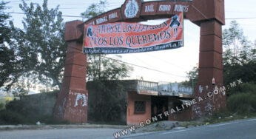
[[[64,78],[55,104],[55,118],[71,123],[87,123],[88,92],[86,90],[87,56],[82,53],[82,21],[65,24],[67,55]]]

